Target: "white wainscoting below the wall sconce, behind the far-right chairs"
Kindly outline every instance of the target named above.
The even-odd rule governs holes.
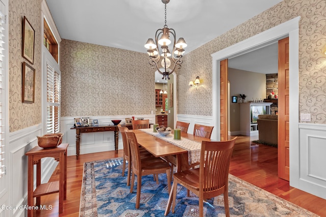
[[[188,133],[191,134],[194,133],[195,123],[198,125],[214,126],[212,116],[177,114],[177,120],[190,123]],[[220,136],[218,137],[216,135],[215,127],[213,128],[213,132],[210,138],[213,140],[220,140]]]

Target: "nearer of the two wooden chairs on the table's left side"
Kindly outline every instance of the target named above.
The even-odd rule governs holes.
[[[133,190],[134,175],[137,175],[137,197],[135,207],[138,209],[141,197],[142,188],[142,176],[148,174],[167,174],[168,181],[168,192],[171,191],[171,167],[170,165],[162,160],[161,158],[140,158],[139,144],[137,138],[133,132],[126,131],[127,141],[129,142],[131,149],[131,164],[132,164],[132,175],[131,175],[131,186],[130,193]],[[158,178],[156,179],[158,181]]]

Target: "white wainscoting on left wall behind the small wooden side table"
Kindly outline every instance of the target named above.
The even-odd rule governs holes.
[[[25,153],[37,146],[37,137],[42,135],[41,125],[36,125],[9,134],[9,144],[6,145],[7,174],[10,182],[10,204],[16,207],[27,204],[28,196],[28,157]],[[41,167],[41,182],[49,180],[58,162],[53,158],[43,158]],[[36,174],[36,166],[34,166]],[[34,176],[36,187],[36,176]],[[26,210],[11,210],[11,216],[26,216]]]

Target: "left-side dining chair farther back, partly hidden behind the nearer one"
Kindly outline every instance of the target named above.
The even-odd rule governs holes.
[[[128,162],[128,177],[127,177],[127,186],[130,185],[130,175],[131,175],[131,155],[130,155],[130,146],[127,141],[126,133],[125,131],[128,131],[127,127],[122,127],[119,123],[118,129],[122,136],[122,143],[123,143],[123,164],[122,164],[122,176],[124,176],[124,172],[126,169],[126,162]],[[127,130],[125,130],[127,129]],[[153,154],[148,152],[145,148],[140,147],[140,153],[141,153],[141,159],[145,158],[151,158],[154,157]],[[156,176],[154,176],[154,179],[156,180]]]

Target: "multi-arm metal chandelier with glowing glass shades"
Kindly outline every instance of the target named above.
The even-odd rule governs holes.
[[[176,42],[176,34],[173,28],[168,28],[167,25],[167,4],[170,0],[161,0],[165,4],[165,25],[163,28],[159,28],[155,33],[155,42],[153,39],[148,39],[145,48],[149,55],[149,64],[152,69],[163,75],[162,79],[170,79],[169,75],[174,72],[175,69],[180,69],[182,64],[182,54],[184,48],[187,46],[183,38],[179,38]],[[170,35],[173,36],[173,48],[171,48]],[[172,53],[169,50],[172,49]],[[161,61],[160,61],[161,59]]]

